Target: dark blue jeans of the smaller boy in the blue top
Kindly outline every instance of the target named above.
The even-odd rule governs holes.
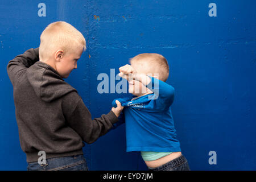
[[[148,169],[149,171],[190,171],[188,161],[182,154],[178,158],[171,160],[162,166]]]

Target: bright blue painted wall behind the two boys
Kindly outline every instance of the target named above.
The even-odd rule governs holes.
[[[46,17],[38,4],[46,4]],[[217,5],[210,17],[209,3]],[[256,2],[246,1],[1,1],[0,169],[26,170],[6,65],[36,48],[51,22],[64,20],[85,36],[87,50],[67,79],[93,117],[114,98],[99,94],[97,76],[139,53],[156,52],[170,64],[175,88],[172,113],[177,137],[192,170],[256,169]],[[24,98],[26,99],[26,98]],[[84,147],[92,170],[146,169],[137,152],[127,153],[125,126]],[[217,152],[210,165],[209,151]]]

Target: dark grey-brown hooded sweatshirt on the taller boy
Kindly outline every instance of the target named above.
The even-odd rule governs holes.
[[[92,119],[71,85],[50,65],[39,60],[39,48],[28,49],[7,65],[13,84],[20,146],[27,162],[82,154],[84,142],[93,143],[118,121],[113,111]]]

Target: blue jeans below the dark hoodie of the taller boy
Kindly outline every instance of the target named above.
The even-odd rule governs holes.
[[[28,163],[28,171],[87,171],[84,155],[46,159],[46,164]]]

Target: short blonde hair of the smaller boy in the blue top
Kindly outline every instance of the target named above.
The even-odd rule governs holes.
[[[142,69],[146,69],[147,73],[153,76],[159,74],[159,80],[166,81],[169,76],[169,65],[166,58],[158,53],[141,53],[130,59],[131,62],[136,62],[142,65]],[[144,65],[147,63],[148,67]]]

